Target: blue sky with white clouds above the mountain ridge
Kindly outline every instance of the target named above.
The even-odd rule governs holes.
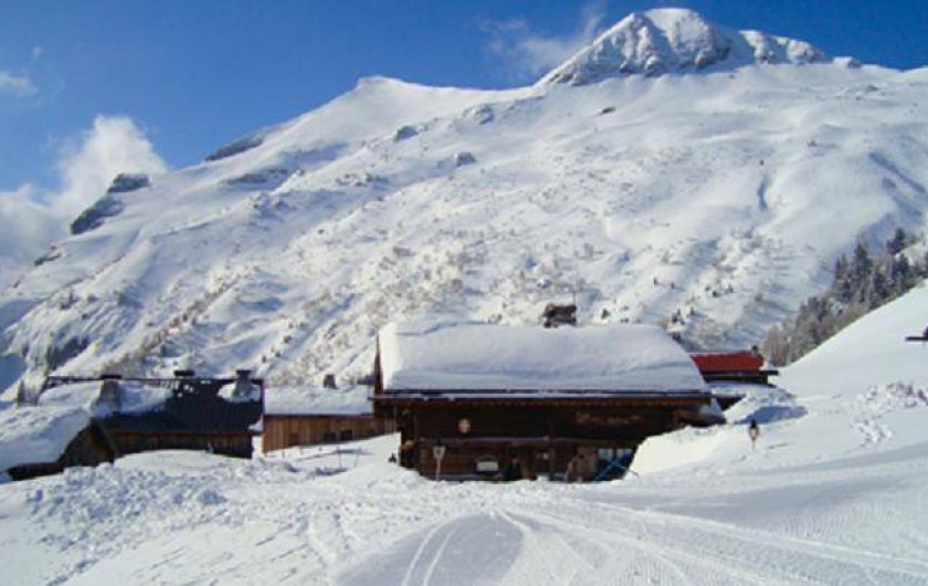
[[[191,165],[367,75],[530,83],[626,13],[662,6],[865,63],[928,64],[926,0],[8,0],[0,197],[98,189],[81,174],[109,176],[130,156],[156,170]]]

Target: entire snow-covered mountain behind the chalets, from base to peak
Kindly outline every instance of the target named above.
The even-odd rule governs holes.
[[[0,295],[0,387],[355,377],[391,320],[536,323],[574,296],[583,323],[758,342],[857,239],[924,228],[928,70],[851,64],[661,10],[531,87],[362,80],[102,193]]]

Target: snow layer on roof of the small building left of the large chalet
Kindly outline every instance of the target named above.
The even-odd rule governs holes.
[[[265,415],[370,415],[367,387],[345,389],[270,388],[264,395]]]

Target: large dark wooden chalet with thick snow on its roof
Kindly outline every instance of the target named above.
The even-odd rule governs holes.
[[[655,326],[391,324],[378,336],[375,415],[396,419],[400,463],[426,477],[498,479],[515,458],[524,478],[561,479],[582,454],[582,477],[603,478],[711,404]]]

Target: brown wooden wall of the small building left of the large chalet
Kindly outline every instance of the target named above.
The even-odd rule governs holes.
[[[372,415],[274,414],[264,416],[262,450],[282,450],[372,438],[396,431],[391,419]]]

